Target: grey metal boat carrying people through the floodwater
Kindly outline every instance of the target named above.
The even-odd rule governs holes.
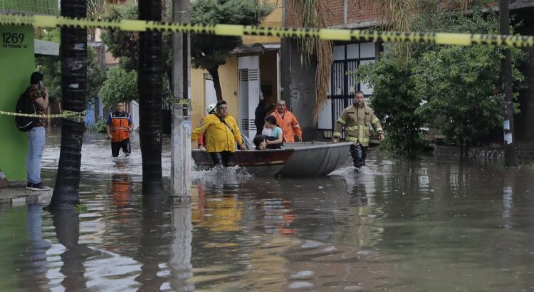
[[[347,161],[352,142],[284,142],[282,149],[238,150],[229,166],[244,167],[262,177],[318,177],[342,167]],[[197,167],[213,167],[208,152],[192,150]]]

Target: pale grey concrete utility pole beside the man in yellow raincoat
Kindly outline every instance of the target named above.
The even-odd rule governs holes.
[[[172,20],[189,23],[189,0],[174,0]],[[187,100],[191,98],[191,54],[189,33],[174,33],[174,65],[172,80],[174,98]],[[171,193],[187,202],[191,196],[191,115],[188,103],[172,105],[171,137]]]

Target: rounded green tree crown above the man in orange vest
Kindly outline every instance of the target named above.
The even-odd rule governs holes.
[[[121,66],[110,68],[100,88],[100,98],[108,108],[120,101],[137,100],[137,71],[125,71]]]

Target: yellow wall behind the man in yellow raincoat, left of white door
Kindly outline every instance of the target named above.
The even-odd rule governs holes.
[[[208,71],[202,69],[191,68],[191,95],[193,112],[191,114],[192,127],[198,127],[200,120],[204,118],[206,113],[206,96],[204,93],[204,73]],[[238,80],[237,80],[237,56],[231,56],[226,59],[226,64],[219,67],[219,78],[221,80],[221,92],[223,99],[228,103],[230,115],[232,115],[236,122],[239,121],[239,104],[237,95]],[[197,147],[197,142],[193,143],[193,147]]]

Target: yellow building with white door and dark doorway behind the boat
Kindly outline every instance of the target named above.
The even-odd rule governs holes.
[[[283,1],[269,0],[275,6],[273,13],[261,26],[282,26]],[[280,98],[280,38],[245,36],[243,46],[236,48],[219,67],[221,92],[229,104],[229,111],[239,122],[244,135],[256,134],[254,110],[259,101],[259,90],[266,103],[276,103]],[[192,126],[199,125],[206,116],[206,107],[216,103],[211,75],[202,69],[191,70]],[[194,143],[196,147],[197,143]]]

